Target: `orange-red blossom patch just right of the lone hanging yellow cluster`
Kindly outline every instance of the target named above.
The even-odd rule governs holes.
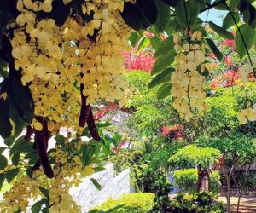
[[[230,71],[224,72],[224,74],[218,78],[213,78],[211,83],[211,88],[215,89],[217,87],[235,86],[235,85],[239,85],[240,82],[241,82],[241,76],[239,75],[239,73],[230,70]]]

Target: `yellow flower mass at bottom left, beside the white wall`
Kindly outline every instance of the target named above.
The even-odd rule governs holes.
[[[77,141],[71,144],[72,138],[65,138],[67,147],[73,147],[77,151],[84,145],[84,141]],[[49,212],[73,213],[81,212],[80,206],[75,203],[69,194],[69,189],[78,187],[82,177],[95,173],[94,165],[83,166],[81,156],[73,152],[67,153],[58,144],[55,145],[55,152],[50,157],[55,158],[55,174],[53,179],[44,176],[43,170],[35,170],[32,178],[20,176],[10,190],[3,194],[4,202],[0,205],[1,212],[13,213],[17,210],[26,212],[29,201],[35,201],[44,197],[38,187],[49,190]],[[11,168],[12,169],[12,168]]]

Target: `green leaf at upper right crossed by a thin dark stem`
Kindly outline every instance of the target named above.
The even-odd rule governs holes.
[[[253,45],[254,38],[255,38],[255,30],[252,27],[247,26],[246,24],[239,26],[239,29],[240,29],[241,35],[243,37],[243,40],[241,38],[240,33],[237,30],[236,37],[235,37],[235,44],[236,44],[236,49],[237,49],[238,55],[240,58],[242,58],[244,55],[247,54],[245,45],[247,46],[248,50]],[[244,43],[243,43],[243,41],[244,41]]]

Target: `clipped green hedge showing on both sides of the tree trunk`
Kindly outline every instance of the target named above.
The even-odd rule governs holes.
[[[174,181],[179,190],[182,193],[192,193],[196,192],[196,185],[198,174],[195,169],[185,169],[174,171]],[[218,171],[212,171],[210,174],[209,188],[210,191],[218,193],[220,186],[220,176]]]

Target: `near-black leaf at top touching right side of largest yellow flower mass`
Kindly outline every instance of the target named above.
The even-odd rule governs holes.
[[[143,28],[143,14],[137,5],[124,3],[124,11],[121,13],[125,23],[132,29],[138,31]]]

